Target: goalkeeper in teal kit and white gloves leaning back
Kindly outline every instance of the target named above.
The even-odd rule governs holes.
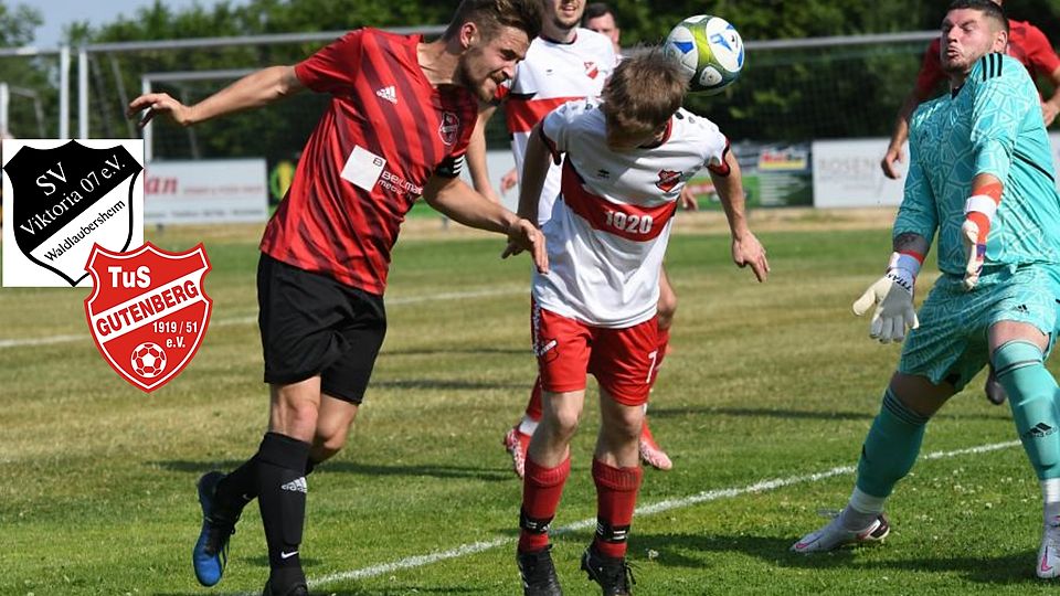
[[[910,132],[910,170],[887,274],[855,304],[876,306],[870,336],[902,341],[858,462],[847,507],[796,542],[796,552],[876,542],[889,532],[884,500],[909,473],[924,427],[989,361],[1041,481],[1040,577],[1060,575],[1060,419],[1057,383],[1042,364],[1057,317],[1060,196],[1038,92],[1004,55],[1008,21],[989,0],[957,0],[942,23],[951,92],[923,104]],[[942,276],[913,311],[916,273],[939,234]]]

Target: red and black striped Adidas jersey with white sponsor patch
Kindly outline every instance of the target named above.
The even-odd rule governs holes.
[[[434,87],[417,60],[418,35],[352,31],[295,66],[331,95],[303,150],[262,252],[382,295],[405,213],[435,173],[458,175],[477,100]]]

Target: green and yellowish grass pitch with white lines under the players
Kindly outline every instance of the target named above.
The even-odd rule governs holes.
[[[155,242],[188,248],[198,233]],[[675,460],[648,470],[629,555],[637,594],[1034,594],[1037,481],[1007,407],[982,377],[930,426],[876,549],[799,557],[803,533],[841,507],[899,348],[867,338],[850,301],[881,270],[886,230],[762,234],[773,274],[753,283],[728,238],[678,234],[674,353],[653,394]],[[252,594],[267,573],[256,508],[229,570],[198,586],[194,482],[256,448],[266,421],[254,323],[254,234],[206,240],[214,315],[180,377],[146,395],[96,352],[85,290],[0,289],[2,595]],[[520,594],[521,483],[500,438],[534,375],[528,264],[499,240],[405,238],[390,332],[347,449],[309,478],[303,561],[315,593]],[[933,262],[933,258],[931,259]],[[921,290],[933,280],[922,276]],[[922,291],[923,292],[923,291]],[[553,553],[571,595],[591,538],[596,407],[586,407]]]

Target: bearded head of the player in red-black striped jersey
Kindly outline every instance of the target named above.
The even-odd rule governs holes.
[[[442,39],[460,49],[456,82],[489,102],[540,32],[539,0],[464,0]]]

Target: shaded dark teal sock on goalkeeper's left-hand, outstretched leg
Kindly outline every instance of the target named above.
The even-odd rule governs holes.
[[[872,497],[890,497],[894,485],[909,473],[920,454],[928,417],[905,407],[891,393],[883,393],[883,405],[861,446],[857,487]]]

